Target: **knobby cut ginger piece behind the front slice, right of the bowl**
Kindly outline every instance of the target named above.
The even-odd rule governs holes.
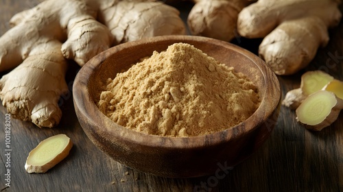
[[[307,71],[301,76],[300,88],[288,91],[282,104],[293,110],[306,99],[307,96],[322,90],[333,77],[323,71]]]

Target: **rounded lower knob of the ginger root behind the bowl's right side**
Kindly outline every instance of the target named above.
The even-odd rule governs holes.
[[[292,75],[307,67],[318,47],[328,42],[327,27],[317,17],[285,21],[263,38],[259,56],[274,73]]]

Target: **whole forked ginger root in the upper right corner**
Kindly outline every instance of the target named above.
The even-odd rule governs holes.
[[[318,47],[329,41],[327,29],[340,23],[338,0],[259,0],[241,10],[237,31],[263,38],[259,55],[278,75],[306,67]]]

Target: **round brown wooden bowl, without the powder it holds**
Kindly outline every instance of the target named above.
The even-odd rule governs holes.
[[[154,136],[118,125],[100,112],[101,83],[140,58],[173,43],[189,43],[246,74],[259,88],[261,105],[234,128],[186,138]],[[279,115],[281,90],[276,75],[253,53],[221,40],[200,36],[159,36],[112,47],[87,62],[75,77],[76,115],[89,139],[119,163],[158,176],[189,178],[226,173],[265,141]],[[224,170],[223,170],[224,169]]]

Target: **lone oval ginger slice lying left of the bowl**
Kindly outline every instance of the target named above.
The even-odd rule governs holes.
[[[73,147],[65,134],[57,134],[41,141],[29,152],[25,163],[27,173],[45,173],[66,158]]]

